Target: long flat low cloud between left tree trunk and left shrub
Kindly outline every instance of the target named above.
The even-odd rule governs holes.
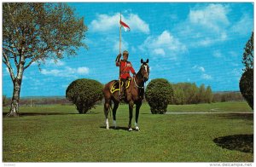
[[[90,72],[89,68],[86,66],[81,66],[78,68],[71,68],[66,66],[64,69],[53,69],[46,70],[42,69],[41,73],[44,75],[54,76],[54,77],[77,77],[77,75],[86,75]]]

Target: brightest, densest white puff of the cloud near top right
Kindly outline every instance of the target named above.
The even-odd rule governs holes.
[[[204,9],[191,9],[189,11],[189,20],[193,24],[220,32],[224,26],[230,25],[227,17],[228,12],[229,9],[223,4],[209,4]]]

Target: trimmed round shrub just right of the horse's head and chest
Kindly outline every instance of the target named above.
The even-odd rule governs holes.
[[[145,97],[153,114],[166,113],[167,106],[172,100],[172,84],[164,78],[153,79],[148,83]]]

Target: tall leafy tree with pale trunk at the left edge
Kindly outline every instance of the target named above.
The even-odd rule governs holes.
[[[3,63],[14,85],[9,117],[19,115],[24,71],[32,63],[40,69],[47,59],[76,55],[76,49],[86,48],[86,31],[84,18],[65,3],[3,3]]]

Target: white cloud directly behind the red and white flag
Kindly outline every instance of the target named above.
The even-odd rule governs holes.
[[[96,20],[89,25],[91,32],[109,32],[119,28],[119,13],[114,15],[98,14]],[[122,15],[122,20],[131,28],[131,31],[149,33],[148,24],[137,14]]]

